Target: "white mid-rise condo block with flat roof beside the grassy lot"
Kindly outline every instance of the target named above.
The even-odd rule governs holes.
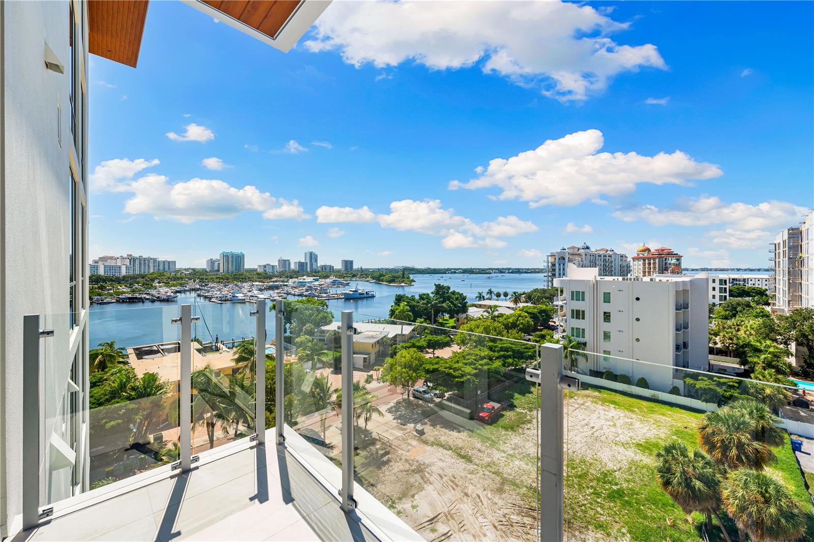
[[[637,367],[613,357],[649,361],[676,368],[707,370],[707,273],[649,278],[599,277],[595,268],[568,268],[557,278],[561,288],[558,325],[584,343],[588,369],[625,373],[632,382],[644,377],[651,389],[682,387],[681,375],[654,365]],[[624,366],[622,366],[624,365]]]

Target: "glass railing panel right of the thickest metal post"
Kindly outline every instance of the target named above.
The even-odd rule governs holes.
[[[797,531],[786,540],[814,540],[812,496],[790,443],[812,435],[810,392],[765,371],[777,382],[672,359],[570,352],[566,365],[581,384],[565,405],[567,540],[724,540],[722,528],[737,540],[742,508],[722,490],[734,495],[746,479],[788,496],[783,514]],[[699,484],[709,507],[682,493]]]

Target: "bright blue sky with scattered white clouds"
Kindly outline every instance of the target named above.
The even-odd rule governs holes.
[[[90,256],[764,266],[814,205],[812,6],[335,2],[283,54],[151,2],[90,62]]]

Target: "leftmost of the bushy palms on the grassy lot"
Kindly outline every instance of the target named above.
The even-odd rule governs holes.
[[[656,475],[667,495],[687,514],[701,512],[707,516],[707,530],[712,529],[715,514],[720,530],[729,535],[720,521],[720,478],[716,464],[700,449],[689,452],[687,445],[674,440],[656,452]]]

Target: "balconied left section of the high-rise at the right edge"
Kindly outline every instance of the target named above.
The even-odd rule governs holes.
[[[773,313],[790,313],[803,306],[802,230],[799,226],[783,229],[769,249],[774,266]]]

